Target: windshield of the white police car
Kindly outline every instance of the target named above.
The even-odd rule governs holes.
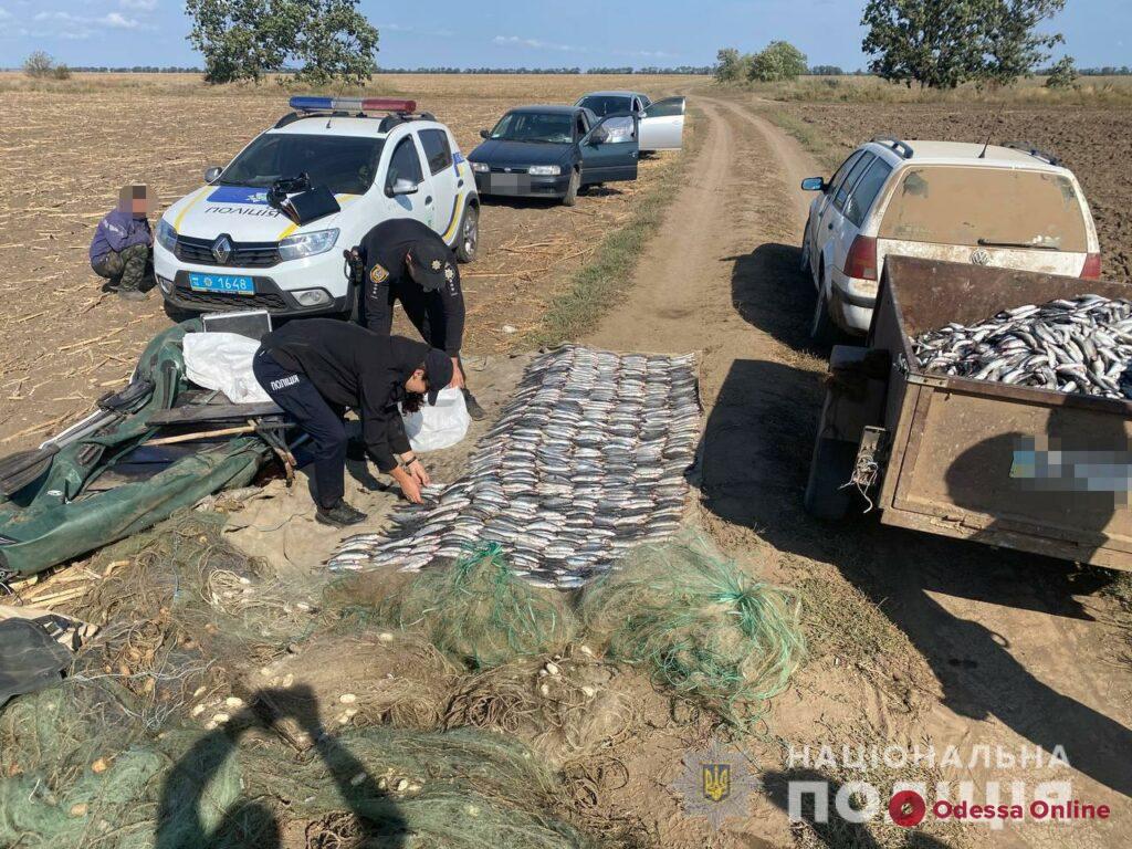
[[[335,195],[365,195],[374,185],[383,140],[355,136],[266,132],[224,169],[224,186],[268,187],[306,172],[312,187]]]

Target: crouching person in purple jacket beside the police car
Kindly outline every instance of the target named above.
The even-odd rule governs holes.
[[[127,300],[148,295],[142,283],[153,267],[153,231],[149,229],[149,191],[145,186],[123,186],[118,207],[98,222],[91,242],[91,267]]]

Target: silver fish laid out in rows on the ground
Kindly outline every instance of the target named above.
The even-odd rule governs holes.
[[[334,571],[415,572],[495,541],[516,574],[581,586],[627,550],[679,526],[700,432],[695,357],[564,346],[535,359],[468,473],[355,534]]]

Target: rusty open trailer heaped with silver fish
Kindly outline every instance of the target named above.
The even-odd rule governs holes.
[[[892,257],[806,508],[1132,569],[1132,288]]]

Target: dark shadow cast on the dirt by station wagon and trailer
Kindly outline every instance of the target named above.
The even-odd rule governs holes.
[[[799,353],[807,350],[813,292],[797,271],[798,250],[762,246],[734,263],[739,315]],[[1062,694],[1055,679],[1036,677],[989,621],[958,618],[933,598],[1088,620],[1092,617],[1073,595],[1097,592],[1113,573],[885,528],[872,516],[835,525],[811,518],[801,501],[822,379],[813,367],[734,362],[701,445],[704,507],[753,529],[779,551],[833,564],[883,603],[883,612],[931,664],[952,711],[976,720],[995,717],[1047,752],[1062,745],[1075,769],[1132,794],[1130,729]]]

